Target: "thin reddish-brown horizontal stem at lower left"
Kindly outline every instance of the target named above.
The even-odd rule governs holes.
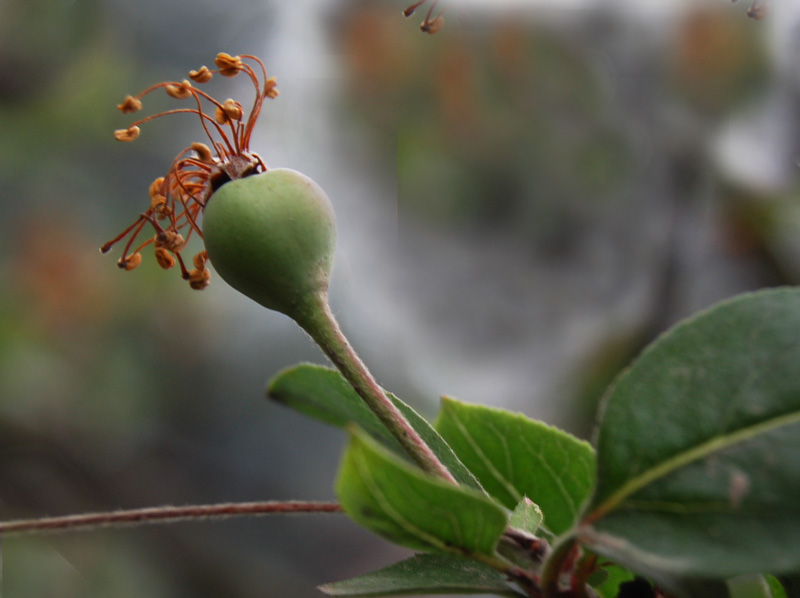
[[[104,527],[139,526],[153,523],[177,523],[197,519],[224,519],[244,515],[288,515],[293,513],[341,513],[337,503],[302,501],[267,501],[189,505],[185,507],[148,507],[128,511],[65,515],[0,522],[0,536],[64,531],[87,531]]]

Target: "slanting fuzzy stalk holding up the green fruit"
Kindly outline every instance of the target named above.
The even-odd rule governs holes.
[[[327,293],[319,293],[304,304],[294,320],[305,330],[325,355],[333,362],[372,412],[389,432],[397,438],[414,461],[430,474],[458,485],[453,474],[444,466],[431,448],[397,409],[375,381],[367,366],[358,357],[328,305]]]

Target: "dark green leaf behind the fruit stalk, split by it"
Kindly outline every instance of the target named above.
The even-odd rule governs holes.
[[[408,458],[400,443],[336,370],[311,364],[288,368],[270,381],[267,395],[278,403],[327,424],[344,428],[354,423],[395,454]],[[453,477],[460,484],[482,490],[475,476],[425,418],[391,393],[387,395]]]

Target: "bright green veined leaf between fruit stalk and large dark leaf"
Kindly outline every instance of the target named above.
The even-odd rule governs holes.
[[[436,429],[491,496],[513,509],[527,496],[561,534],[594,486],[592,447],[522,414],[442,399]]]

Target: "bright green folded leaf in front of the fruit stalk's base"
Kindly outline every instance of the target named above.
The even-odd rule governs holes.
[[[354,521],[426,552],[491,556],[508,518],[484,494],[422,472],[355,427],[336,491]]]

